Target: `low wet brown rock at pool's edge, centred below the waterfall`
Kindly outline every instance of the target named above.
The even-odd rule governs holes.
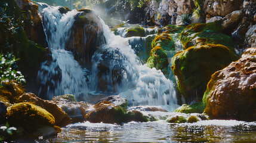
[[[131,121],[147,122],[147,116],[140,111],[128,111],[126,108],[113,105],[110,101],[101,101],[94,105],[94,110],[87,113],[86,119],[91,123],[127,123]]]

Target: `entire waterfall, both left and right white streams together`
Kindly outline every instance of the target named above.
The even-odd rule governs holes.
[[[120,94],[127,98],[129,106],[162,105],[169,111],[177,107],[171,80],[166,79],[161,70],[143,65],[129,40],[114,35],[103,20],[106,43],[92,55],[87,81],[72,52],[64,49],[72,36],[70,29],[78,13],[81,12],[72,10],[61,14],[58,7],[41,11],[51,58],[42,63],[38,71],[39,96],[51,99],[57,95],[73,94],[86,100],[88,92],[101,92],[105,95]]]

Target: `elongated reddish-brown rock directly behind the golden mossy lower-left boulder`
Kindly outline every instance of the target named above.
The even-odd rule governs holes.
[[[41,108],[44,108],[49,113],[51,113],[55,118],[55,125],[63,127],[71,123],[70,117],[58,107],[57,104],[53,101],[42,100],[39,97],[36,97],[35,94],[26,93],[20,95],[20,102],[32,102],[35,105],[38,105]]]

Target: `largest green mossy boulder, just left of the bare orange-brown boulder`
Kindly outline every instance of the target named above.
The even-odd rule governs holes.
[[[198,100],[202,99],[206,85],[215,71],[224,69],[237,59],[235,50],[227,46],[192,46],[172,58],[171,69],[178,77],[179,91],[191,102],[196,97]]]

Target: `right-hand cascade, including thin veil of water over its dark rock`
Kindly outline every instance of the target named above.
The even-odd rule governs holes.
[[[128,45],[129,39],[115,36],[104,21],[101,22],[107,43],[92,58],[94,65],[90,82],[97,82],[90,89],[94,87],[97,90],[95,86],[103,83],[106,91],[119,93],[127,98],[130,106],[162,105],[166,110],[173,111],[177,100],[171,81],[165,78],[161,70],[150,69],[141,64],[131,45]],[[99,67],[103,68],[99,70]],[[116,67],[119,70],[113,70],[118,69]],[[99,79],[99,75],[103,76]],[[118,76],[122,76],[121,79],[118,80]],[[116,85],[115,82],[119,84]]]

